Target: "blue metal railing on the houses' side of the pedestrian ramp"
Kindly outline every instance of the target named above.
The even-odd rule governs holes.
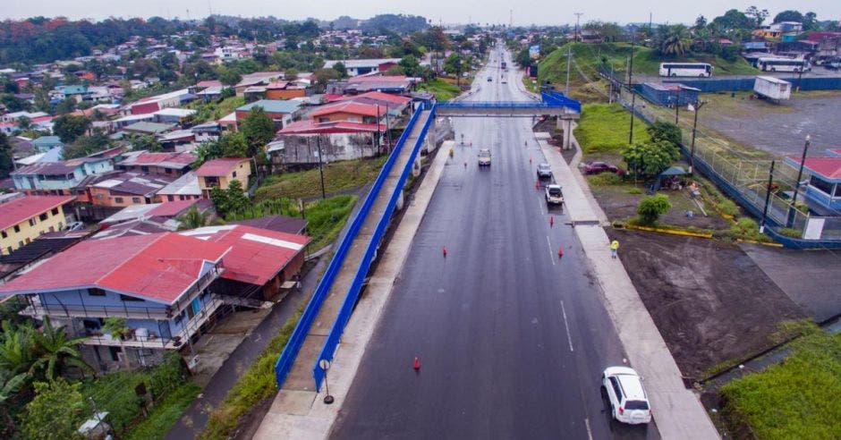
[[[417,123],[423,109],[424,107],[419,107],[415,113],[412,114],[412,118],[409,120],[409,123],[406,124],[406,129],[400,136],[400,139],[397,140],[395,149],[392,151],[391,156],[388,157],[386,164],[383,165],[382,170],[380,170],[377,180],[371,186],[368,196],[365,198],[365,201],[362,203],[359,211],[357,211],[356,216],[353,217],[353,222],[348,228],[347,233],[344,234],[344,239],[342,239],[339,243],[336,253],[333,255],[333,259],[331,259],[330,264],[327,265],[327,270],[321,277],[321,281],[319,281],[319,285],[316,287],[315,292],[313,292],[310,302],[307,303],[307,307],[304,309],[301,319],[295,326],[292,335],[289,338],[289,342],[286,343],[284,351],[281,351],[280,356],[277,358],[277,361],[275,362],[275,377],[278,389],[280,389],[280,387],[284,384],[286,376],[289,374],[289,370],[292,369],[295,358],[298,356],[298,351],[301,351],[301,346],[303,345],[304,339],[307,337],[307,333],[310,331],[312,322],[316,317],[318,317],[321,305],[327,298],[327,293],[330,292],[330,288],[333,287],[333,282],[336,280],[336,275],[338,275],[342,265],[344,264],[344,258],[347,256],[347,252],[350,250],[353,240],[356,239],[362,224],[365,223],[365,219],[370,213],[370,207],[373,206],[374,201],[377,199],[379,190],[382,189],[383,182],[386,181],[388,173],[391,171],[396,158],[400,155],[401,148],[403,147],[406,138],[409,137],[409,133],[412,131],[414,124]]]

